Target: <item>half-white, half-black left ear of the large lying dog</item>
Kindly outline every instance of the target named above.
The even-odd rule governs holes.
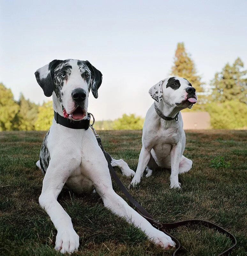
[[[52,60],[49,64],[39,68],[34,73],[36,80],[43,89],[45,96],[50,97],[54,90],[53,72],[54,68],[63,60]]]

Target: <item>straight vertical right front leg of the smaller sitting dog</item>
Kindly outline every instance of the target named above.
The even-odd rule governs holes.
[[[181,188],[178,182],[178,167],[181,156],[182,143],[178,142],[171,148],[171,176],[170,188]]]

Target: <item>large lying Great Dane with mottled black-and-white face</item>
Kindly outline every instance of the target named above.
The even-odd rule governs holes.
[[[101,72],[88,61],[71,59],[53,60],[39,68],[35,76],[44,94],[52,95],[54,110],[73,122],[87,118],[90,89],[98,98],[102,82]],[[111,164],[119,166],[126,176],[134,174],[121,159],[112,159]],[[45,173],[39,203],[57,229],[57,251],[73,252],[79,247],[79,236],[73,229],[71,218],[57,202],[64,185],[76,193],[95,189],[105,207],[141,228],[155,244],[164,248],[175,246],[169,236],[154,228],[114,192],[107,161],[91,129],[67,128],[53,119],[43,141],[37,166]]]

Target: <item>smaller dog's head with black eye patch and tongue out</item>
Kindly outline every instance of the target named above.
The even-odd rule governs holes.
[[[196,89],[182,77],[168,77],[150,88],[149,94],[158,103],[163,101],[169,106],[191,108],[197,102]]]

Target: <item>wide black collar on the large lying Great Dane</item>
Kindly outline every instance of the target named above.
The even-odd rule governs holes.
[[[60,116],[57,112],[54,110],[54,118],[57,124],[61,124],[65,127],[71,128],[71,129],[85,129],[87,130],[90,125],[90,114],[87,113],[87,119],[82,119],[80,121],[74,121],[69,118],[65,118],[63,116]]]

